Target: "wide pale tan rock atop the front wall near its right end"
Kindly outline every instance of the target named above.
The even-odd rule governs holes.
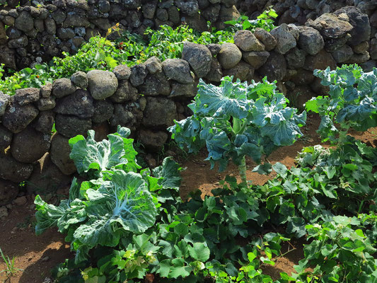
[[[324,13],[312,21],[309,19],[306,25],[315,28],[326,38],[340,38],[349,33],[353,27],[347,21],[343,21],[336,15]]]

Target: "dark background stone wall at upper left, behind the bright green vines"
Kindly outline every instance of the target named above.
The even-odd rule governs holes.
[[[207,30],[207,21],[222,28],[224,21],[239,16],[235,0],[50,0],[33,1],[32,6],[21,1],[17,6],[19,2],[0,5],[0,63],[11,69],[74,53],[93,35],[105,36],[116,23],[142,34],[147,27],[182,22],[197,30]]]

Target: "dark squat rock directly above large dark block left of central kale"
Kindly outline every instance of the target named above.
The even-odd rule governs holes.
[[[139,91],[146,96],[168,96],[170,93],[170,83],[163,71],[160,71],[153,75],[147,75],[144,83],[139,86]]]

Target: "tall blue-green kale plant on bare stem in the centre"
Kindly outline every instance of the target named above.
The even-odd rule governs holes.
[[[193,115],[175,121],[168,130],[178,146],[190,153],[206,146],[211,168],[219,163],[219,171],[224,171],[231,159],[246,184],[245,156],[260,163],[277,147],[294,144],[302,136],[306,112],[298,114],[288,102],[266,78],[248,84],[233,83],[233,77],[226,76],[220,86],[200,80],[189,105]]]

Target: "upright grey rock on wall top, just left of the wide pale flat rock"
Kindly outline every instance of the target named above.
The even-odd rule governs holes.
[[[298,47],[308,54],[315,55],[325,46],[323,37],[315,28],[300,26],[300,36],[298,37]]]

